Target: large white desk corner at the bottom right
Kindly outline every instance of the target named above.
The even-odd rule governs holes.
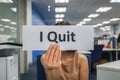
[[[120,60],[97,65],[97,80],[120,80]]]

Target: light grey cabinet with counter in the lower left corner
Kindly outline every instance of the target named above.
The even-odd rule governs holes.
[[[0,43],[0,80],[19,80],[19,49],[19,45],[14,43]]]

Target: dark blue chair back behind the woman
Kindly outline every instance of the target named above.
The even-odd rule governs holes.
[[[82,54],[85,54],[88,59],[88,65],[89,65],[89,80],[91,76],[91,52],[89,51],[79,51]],[[40,61],[42,55],[37,56],[37,80],[46,80],[46,74],[44,67]]]

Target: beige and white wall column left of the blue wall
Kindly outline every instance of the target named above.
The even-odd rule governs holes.
[[[24,23],[26,22],[27,25],[32,24],[31,22],[31,0],[26,0],[26,4],[23,5],[25,0],[19,0],[19,35],[20,35],[20,42],[22,43],[22,28]],[[25,9],[27,8],[27,9]],[[27,10],[27,13],[25,12]],[[26,21],[25,17],[26,16]],[[19,54],[19,68],[20,73],[24,74],[29,69],[29,64],[32,63],[32,52],[31,51],[23,51],[20,50]]]

